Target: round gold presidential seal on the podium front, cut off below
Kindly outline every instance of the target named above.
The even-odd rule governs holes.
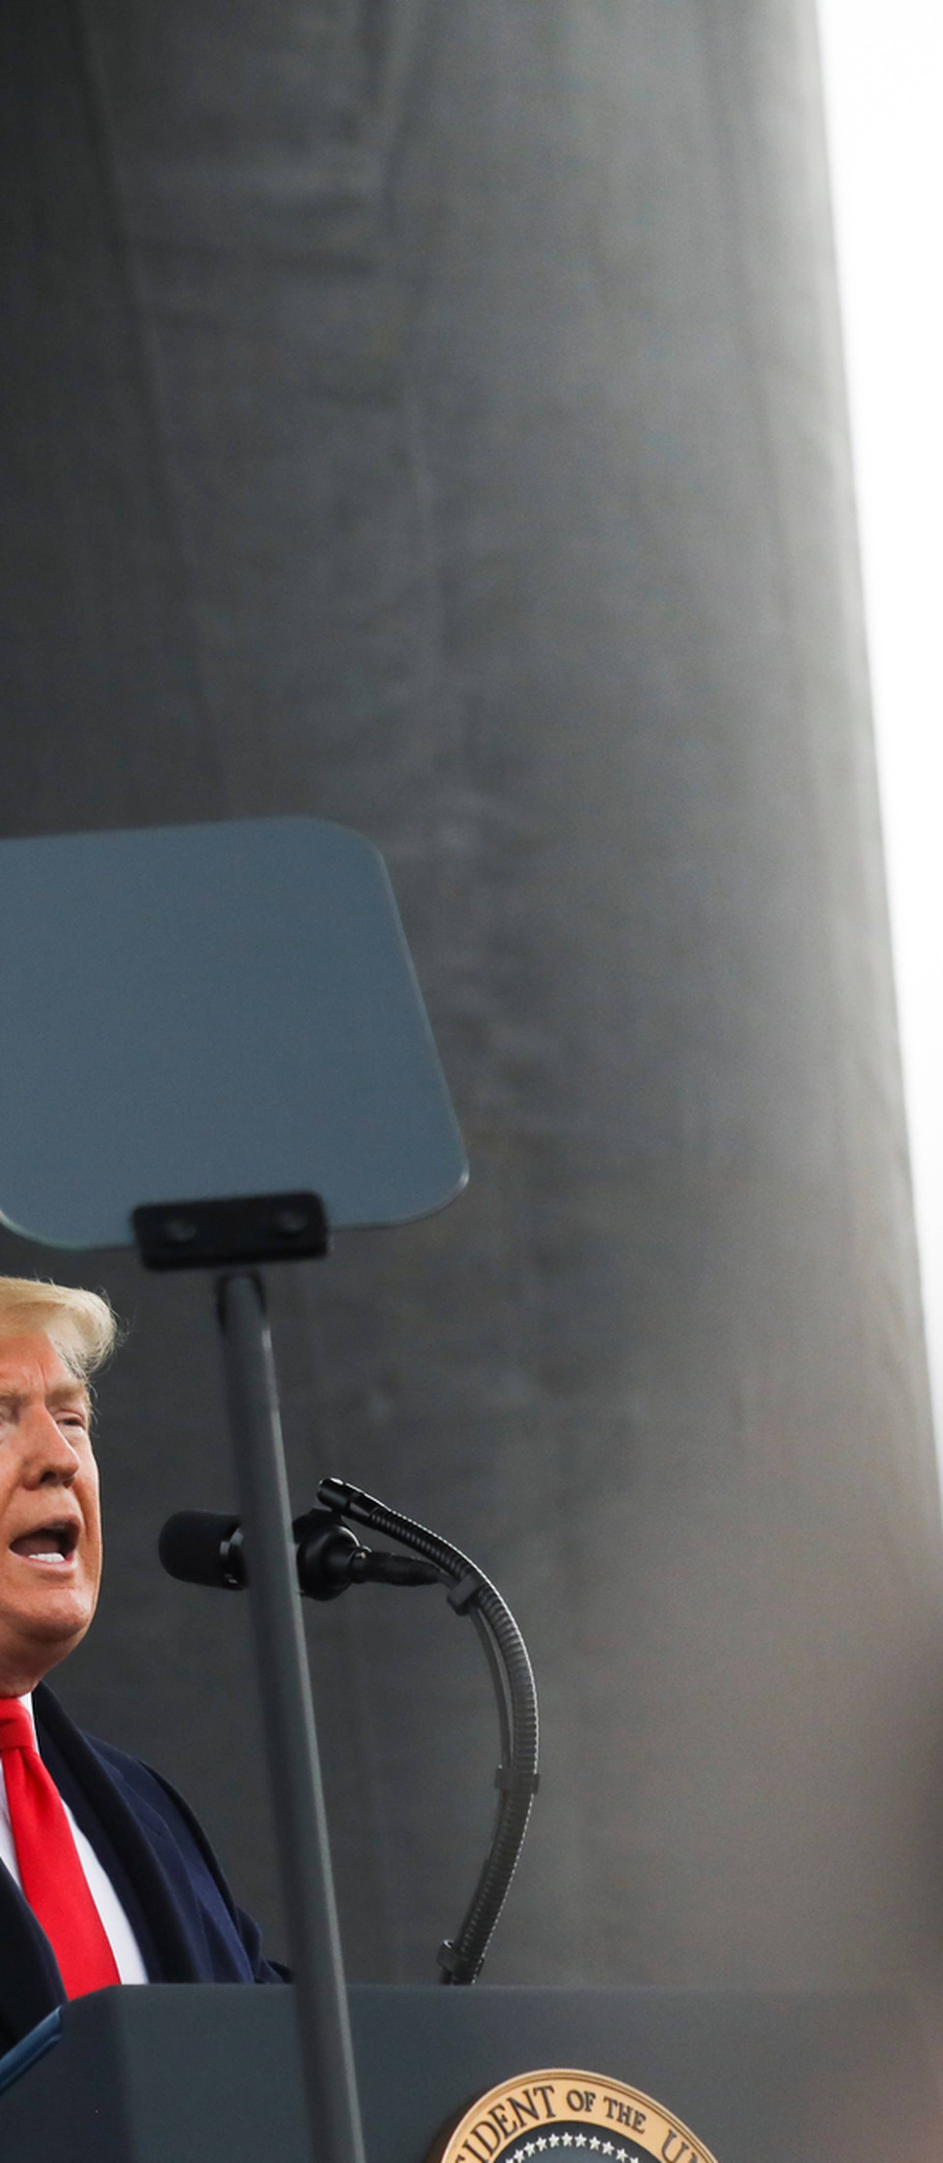
[[[428,2163],[716,2163],[638,2087],[599,2072],[521,2072],[480,2096]]]

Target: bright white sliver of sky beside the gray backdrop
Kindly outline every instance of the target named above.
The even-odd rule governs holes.
[[[943,0],[818,0],[924,1313],[943,1449]]]

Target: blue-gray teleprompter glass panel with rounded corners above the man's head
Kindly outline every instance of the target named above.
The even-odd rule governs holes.
[[[0,844],[0,1216],[130,1246],[138,1203],[311,1190],[333,1226],[467,1166],[383,857],[311,818]]]

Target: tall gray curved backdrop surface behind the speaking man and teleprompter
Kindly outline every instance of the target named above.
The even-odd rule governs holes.
[[[939,1503],[809,6],[0,37],[2,831],[311,811],[387,854],[472,1185],[273,1315],[296,1505],[344,1471],[435,1523],[534,1653],[487,1973],[917,1973]],[[247,1616],[154,1560],[231,1497],[210,1293],[61,1274],[132,1319],[63,1696],[277,1942]],[[309,1640],[350,1970],[430,1975],[476,1644],[383,1590]]]

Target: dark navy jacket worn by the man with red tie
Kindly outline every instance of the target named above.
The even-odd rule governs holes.
[[[138,1759],[82,1735],[45,1683],[37,1741],[125,1908],[151,1983],[281,1983],[182,1795]],[[50,1940],[0,1865],[0,2051],[65,1999]]]

